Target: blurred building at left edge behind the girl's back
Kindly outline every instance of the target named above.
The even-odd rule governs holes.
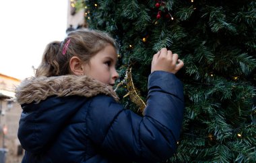
[[[18,84],[20,79],[0,73],[0,162],[4,159],[5,163],[20,163],[24,154],[17,137],[22,112],[20,104],[14,102]]]

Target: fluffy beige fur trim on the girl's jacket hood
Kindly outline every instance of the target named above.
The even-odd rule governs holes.
[[[97,94],[113,96],[119,100],[112,86],[98,82],[87,76],[63,75],[56,77],[32,77],[25,79],[15,89],[15,100],[20,104],[40,102],[49,96],[85,96],[92,97]]]

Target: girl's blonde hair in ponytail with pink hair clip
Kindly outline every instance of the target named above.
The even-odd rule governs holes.
[[[88,29],[72,31],[62,42],[53,41],[47,44],[42,61],[36,70],[36,77],[71,74],[69,69],[71,57],[78,57],[88,63],[96,53],[109,44],[118,49],[115,40],[105,32]],[[65,48],[64,54],[63,48]]]

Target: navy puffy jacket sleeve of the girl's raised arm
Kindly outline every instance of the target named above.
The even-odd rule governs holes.
[[[90,107],[88,136],[107,156],[158,162],[174,154],[184,110],[183,84],[174,74],[150,74],[143,117],[110,97],[96,97]]]

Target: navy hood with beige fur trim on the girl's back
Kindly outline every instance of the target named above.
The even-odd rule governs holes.
[[[22,148],[33,154],[44,153],[56,141],[67,122],[77,119],[76,113],[86,108],[88,98],[97,94],[106,94],[118,100],[112,86],[87,76],[25,79],[15,89],[15,100],[24,110],[18,129]]]

